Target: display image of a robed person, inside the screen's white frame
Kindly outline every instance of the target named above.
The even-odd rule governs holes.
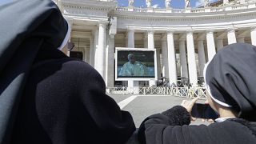
[[[118,50],[117,64],[118,78],[154,78],[154,51]]]

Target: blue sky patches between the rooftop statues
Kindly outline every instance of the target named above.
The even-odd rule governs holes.
[[[128,0],[116,0],[118,6],[127,6]],[[210,2],[216,2],[217,0],[210,0]],[[198,7],[203,5],[204,0],[190,0],[190,7]],[[134,0],[134,6],[136,7],[146,7],[146,0]],[[151,6],[164,8],[165,0],[152,0]],[[173,8],[184,8],[185,0],[171,0],[170,6]]]

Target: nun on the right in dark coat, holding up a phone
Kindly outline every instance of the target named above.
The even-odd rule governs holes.
[[[204,69],[206,97],[219,118],[209,126],[190,125],[194,102],[184,101],[146,118],[139,130],[141,144],[255,144],[256,47],[225,46]]]

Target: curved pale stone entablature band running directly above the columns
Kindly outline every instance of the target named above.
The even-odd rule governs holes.
[[[252,16],[254,15],[254,16]],[[244,17],[234,17],[232,19],[225,18],[212,19],[208,18],[120,18],[118,17],[118,29],[126,29],[129,27],[136,27],[137,30],[147,30],[154,27],[154,30],[223,30],[224,28],[244,28],[256,25],[256,11],[250,16],[244,15]]]

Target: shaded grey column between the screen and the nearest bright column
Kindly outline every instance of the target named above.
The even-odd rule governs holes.
[[[166,38],[162,38],[162,77],[169,78],[168,50]]]

